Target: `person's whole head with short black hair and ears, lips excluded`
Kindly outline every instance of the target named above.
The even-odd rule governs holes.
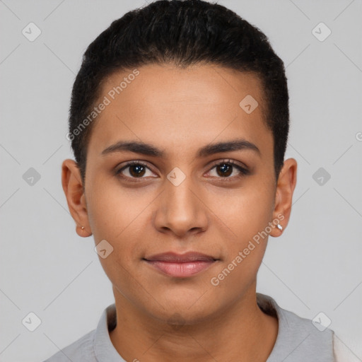
[[[78,234],[111,246],[100,262],[116,299],[193,323],[252,290],[291,211],[288,117],[283,62],[221,5],[156,1],[89,45],[71,96],[76,160],[62,180]],[[216,262],[189,278],[150,269],[148,257],[170,251]]]

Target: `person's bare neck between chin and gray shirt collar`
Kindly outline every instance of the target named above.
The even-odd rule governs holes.
[[[267,361],[278,320],[259,309],[255,284],[217,315],[193,324],[159,320],[115,291],[117,326],[112,344],[126,361]]]

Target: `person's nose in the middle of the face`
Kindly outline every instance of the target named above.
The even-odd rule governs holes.
[[[180,185],[165,180],[165,189],[158,197],[154,225],[161,233],[178,237],[205,231],[209,219],[202,192],[186,177]]]

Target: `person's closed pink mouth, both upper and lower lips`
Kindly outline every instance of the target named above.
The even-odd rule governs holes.
[[[198,274],[211,267],[218,260],[199,252],[187,252],[185,254],[166,252],[144,258],[144,261],[154,269],[175,278],[185,278]]]

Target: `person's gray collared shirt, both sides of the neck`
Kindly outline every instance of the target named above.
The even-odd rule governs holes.
[[[335,362],[331,329],[320,332],[311,320],[280,308],[276,301],[257,293],[257,304],[264,313],[276,315],[279,330],[267,362]],[[116,325],[115,304],[103,311],[98,326],[44,362],[126,362],[119,356],[108,331]]]

